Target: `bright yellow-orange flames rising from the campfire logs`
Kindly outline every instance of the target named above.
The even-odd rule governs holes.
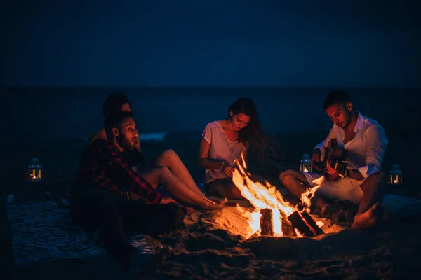
[[[268,182],[263,185],[260,182],[252,181],[250,179],[250,173],[245,171],[247,167],[244,159],[242,161],[242,165],[237,162],[237,168],[234,170],[232,181],[241,191],[241,195],[246,197],[246,199],[253,205],[253,207],[255,207],[253,212],[250,212],[243,211],[241,207],[237,206],[239,211],[241,211],[241,214],[248,219],[249,228],[247,230],[246,238],[262,235],[262,228],[260,223],[262,217],[261,213],[267,213],[267,211],[272,212],[272,219],[270,219],[272,220],[272,230],[270,232],[273,232],[274,237],[283,236],[284,233],[282,231],[282,223],[290,223],[288,219],[283,217],[289,217],[295,211],[309,212],[309,207],[311,205],[310,201],[314,197],[316,190],[320,188],[320,183],[323,181],[324,177],[314,181],[314,183],[316,183],[318,186],[306,190],[305,193],[302,193],[301,204],[304,209],[299,210],[296,207],[293,207],[289,202],[284,201],[281,193],[276,190],[275,186],[271,186]],[[304,223],[307,222],[304,221]],[[302,237],[302,234],[297,228],[294,228],[294,231],[295,235]]]

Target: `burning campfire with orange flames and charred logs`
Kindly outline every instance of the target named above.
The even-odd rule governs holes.
[[[317,186],[302,193],[301,202],[294,207],[283,200],[281,193],[268,182],[263,185],[250,179],[246,172],[246,163],[238,163],[234,170],[232,181],[241,191],[241,195],[253,205],[252,210],[237,208],[248,221],[247,237],[273,236],[273,237],[314,237],[323,234],[321,221],[315,222],[309,215],[312,197],[324,177],[314,181]]]

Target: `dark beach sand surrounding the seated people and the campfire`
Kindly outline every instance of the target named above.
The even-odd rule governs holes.
[[[298,162],[302,153],[311,153],[314,144],[325,136],[326,132],[279,134],[276,136],[277,155],[268,155],[260,164],[251,163],[250,171],[281,187],[279,172],[298,169],[297,163],[281,159]],[[420,134],[392,131],[387,136],[389,146],[384,169],[388,171],[392,163],[399,163],[406,182],[387,191],[419,198],[419,155],[415,155],[414,148],[408,144],[419,143]],[[199,137],[197,139],[178,137],[144,143],[142,147],[146,158],[172,148],[196,182],[201,182],[203,170],[196,167]],[[16,200],[45,200],[46,190],[53,197],[63,197],[73,183],[84,146],[83,141],[44,143],[12,147],[3,152],[1,201],[5,202],[10,193],[15,194]],[[38,185],[25,183],[27,164],[34,157],[41,160],[45,176],[44,182]],[[212,218],[211,214],[207,215]],[[148,236],[147,240],[156,250],[166,246],[170,251],[162,262],[150,265],[140,279],[419,279],[421,219],[418,216],[392,219],[366,232],[349,230],[349,223],[342,223],[340,232],[316,238],[247,240],[200,221],[201,216],[197,216],[195,223],[180,230],[158,237]],[[6,211],[1,211],[0,235],[1,279],[124,279],[123,272],[110,258],[16,267]]]

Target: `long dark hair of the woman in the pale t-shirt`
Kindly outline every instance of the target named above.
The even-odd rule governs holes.
[[[244,146],[251,146],[253,149],[258,151],[262,158],[267,146],[267,138],[265,137],[265,134],[262,133],[262,125],[260,125],[258,109],[256,108],[254,102],[248,98],[236,99],[236,101],[228,108],[228,116],[230,116],[230,112],[234,115],[243,113],[244,115],[250,117],[250,123],[239,131],[239,141],[241,141]]]

